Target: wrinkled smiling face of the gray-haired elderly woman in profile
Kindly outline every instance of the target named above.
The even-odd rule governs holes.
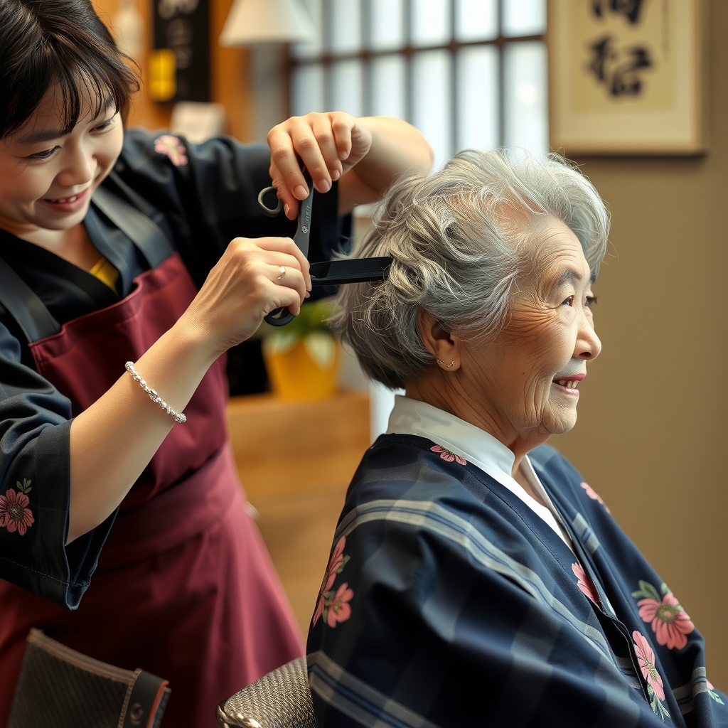
[[[577,385],[587,360],[601,352],[577,237],[549,218],[524,245],[534,272],[518,281],[509,323],[496,339],[467,346],[462,362],[474,403],[486,408],[506,443],[571,430]]]

